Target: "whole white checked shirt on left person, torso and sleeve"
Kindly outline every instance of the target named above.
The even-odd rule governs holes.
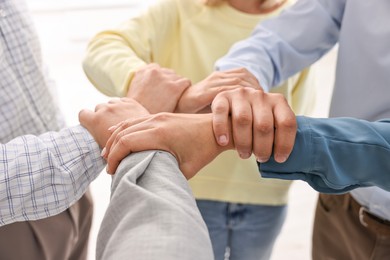
[[[0,226],[64,211],[103,168],[92,136],[64,128],[51,85],[25,3],[0,0]]]

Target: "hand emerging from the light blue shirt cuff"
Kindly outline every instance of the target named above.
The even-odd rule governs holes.
[[[184,91],[175,112],[199,113],[210,112],[210,104],[218,93],[223,91],[252,87],[260,88],[257,79],[246,69],[232,69],[215,71],[206,79],[189,87]]]

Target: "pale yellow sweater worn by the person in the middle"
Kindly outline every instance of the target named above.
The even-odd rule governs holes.
[[[119,28],[95,36],[88,46],[84,71],[96,88],[110,96],[125,96],[137,68],[152,62],[196,83],[213,71],[214,62],[233,43],[291,3],[270,14],[250,15],[226,3],[209,7],[197,0],[157,1]],[[310,115],[313,85],[313,73],[306,69],[275,91],[286,96],[296,114]],[[228,151],[202,169],[190,185],[198,199],[282,205],[287,202],[290,182],[262,179],[254,158],[242,160]]]

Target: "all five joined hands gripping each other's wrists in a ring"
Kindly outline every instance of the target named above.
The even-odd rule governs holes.
[[[173,70],[148,64],[138,70],[127,97],[82,110],[79,120],[103,148],[107,172],[133,152],[174,155],[187,179],[221,152],[242,159],[288,159],[296,118],[283,95],[265,93],[246,69],[215,71],[192,85]]]

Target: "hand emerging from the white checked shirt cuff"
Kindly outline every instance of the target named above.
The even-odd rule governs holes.
[[[137,118],[148,114],[148,111],[135,100],[121,98],[97,105],[95,112],[86,109],[81,110],[79,121],[95,138],[99,146],[103,148],[111,135],[108,130],[111,126],[129,118]]]

